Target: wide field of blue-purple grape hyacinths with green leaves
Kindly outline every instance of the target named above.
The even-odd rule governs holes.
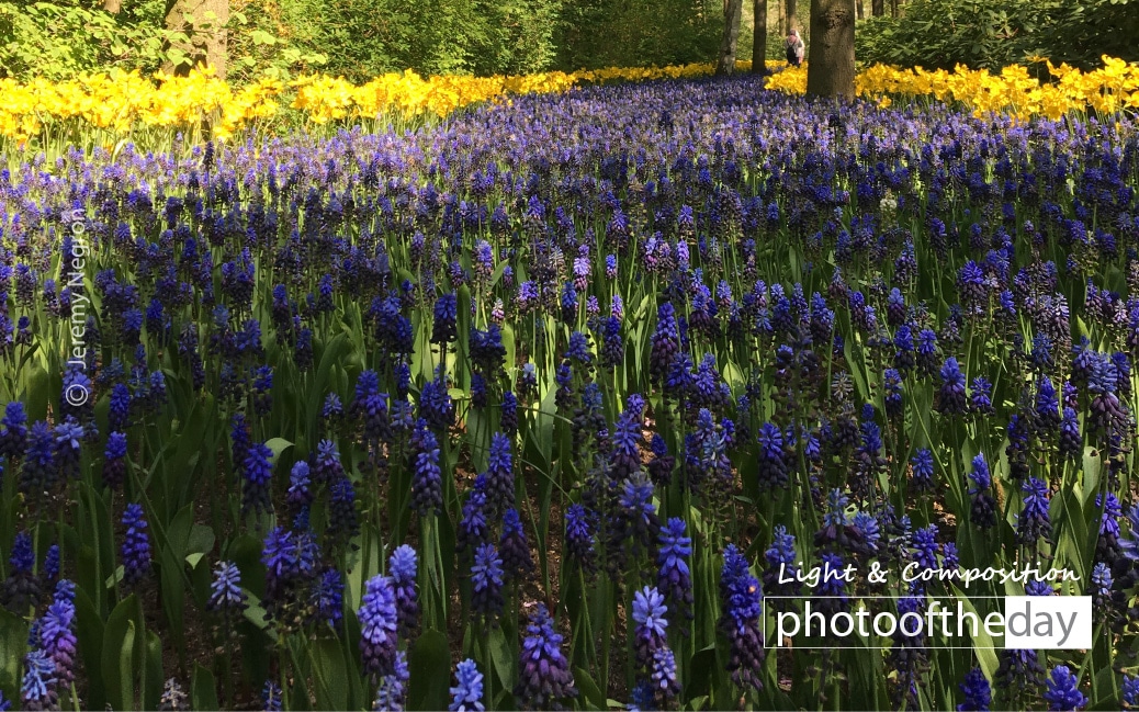
[[[1139,704],[1133,117],[662,81],[8,158],[13,705]],[[781,575],[874,564],[1079,580]],[[1025,594],[1091,649],[769,647]]]

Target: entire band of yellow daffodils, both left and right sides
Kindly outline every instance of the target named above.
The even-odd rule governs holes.
[[[1047,60],[1042,60],[1047,62]],[[751,63],[737,63],[748,69]],[[782,68],[782,63],[769,63]],[[871,66],[858,74],[859,96],[888,105],[898,98],[953,100],[977,115],[991,112],[1058,118],[1072,111],[1111,114],[1139,107],[1139,65],[1104,57],[1104,66],[1080,72],[1048,63],[1054,81],[1040,83],[1021,65],[999,74],[957,67],[928,72],[921,67]],[[229,139],[245,126],[279,115],[282,105],[302,120],[323,124],[380,115],[446,116],[470,104],[510,95],[559,92],[572,87],[613,81],[706,76],[711,64],[685,66],[546,72],[526,76],[429,76],[393,73],[355,85],[326,75],[288,83],[262,79],[232,88],[210,69],[188,76],[112,71],[65,82],[0,80],[0,137],[24,140],[52,128],[90,126],[126,136],[140,128],[187,129],[208,122],[214,138]],[[768,87],[788,93],[806,91],[806,68],[787,67]]]

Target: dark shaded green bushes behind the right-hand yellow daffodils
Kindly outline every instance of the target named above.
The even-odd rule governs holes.
[[[913,0],[854,35],[860,63],[999,69],[1043,56],[1081,68],[1139,59],[1139,0]]]

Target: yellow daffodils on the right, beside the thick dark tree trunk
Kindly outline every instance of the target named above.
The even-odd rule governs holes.
[[[1114,114],[1124,108],[1139,108],[1139,65],[1104,56],[1104,66],[1081,72],[1066,64],[1048,66],[1051,82],[1041,83],[1027,67],[1013,65],[992,74],[988,69],[958,66],[952,72],[933,72],[915,67],[900,69],[874,65],[854,80],[860,97],[877,99],[888,106],[895,98],[931,97],[952,100],[968,107],[977,116],[1005,113],[1027,118],[1059,118],[1071,112],[1089,108],[1099,114]],[[788,68],[768,82],[770,89],[787,93],[806,91],[806,67]]]

